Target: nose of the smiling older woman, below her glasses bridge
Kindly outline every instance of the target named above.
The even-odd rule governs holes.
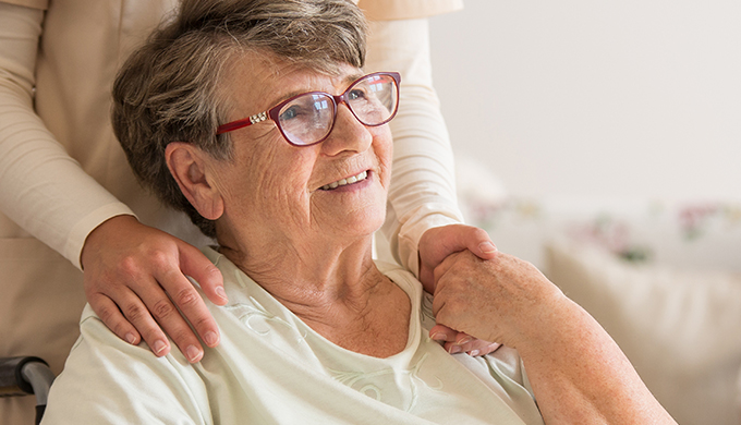
[[[347,105],[338,105],[335,127],[321,143],[323,151],[330,156],[343,151],[361,153],[370,147],[372,143],[373,133],[369,129],[357,121]]]

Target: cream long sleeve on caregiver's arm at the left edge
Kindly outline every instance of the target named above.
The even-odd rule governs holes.
[[[40,10],[0,3],[0,209],[80,267],[87,234],[133,212],[82,170],[34,111],[42,21]]]

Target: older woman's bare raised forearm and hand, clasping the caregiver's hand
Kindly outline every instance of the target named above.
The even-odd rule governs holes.
[[[462,252],[435,278],[438,323],[515,348],[547,424],[676,423],[597,321],[531,264]]]

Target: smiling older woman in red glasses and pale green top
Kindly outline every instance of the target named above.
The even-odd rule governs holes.
[[[142,182],[216,236],[222,342],[196,364],[156,357],[87,307],[45,423],[671,423],[523,262],[451,256],[434,304],[374,263],[400,76],[364,75],[363,60],[344,0],[185,2],[129,60],[114,127]],[[451,356],[433,313],[520,354]]]

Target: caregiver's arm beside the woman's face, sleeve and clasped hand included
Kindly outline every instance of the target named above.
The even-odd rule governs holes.
[[[402,75],[399,112],[389,123],[393,177],[382,232],[394,258],[433,293],[432,270],[448,254],[469,248],[490,258],[496,248],[485,231],[457,224],[463,219],[450,137],[433,87],[428,21],[370,22],[366,68]],[[450,329],[438,336],[450,352],[486,354],[498,347]]]

